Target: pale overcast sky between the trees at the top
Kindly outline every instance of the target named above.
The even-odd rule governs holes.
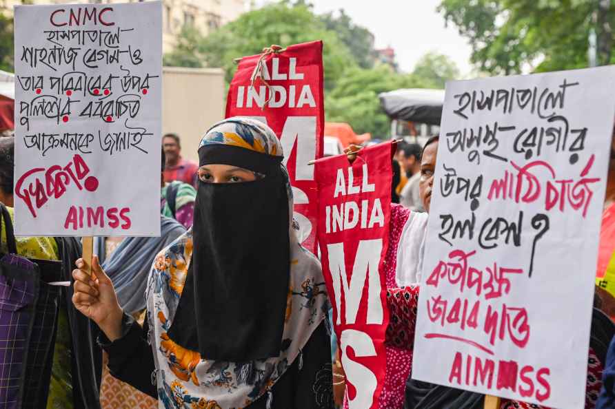
[[[453,25],[445,28],[436,7],[440,0],[310,0],[316,13],[343,8],[376,37],[376,47],[392,46],[401,70],[410,72],[425,52],[450,56],[466,76],[472,70],[467,41]]]

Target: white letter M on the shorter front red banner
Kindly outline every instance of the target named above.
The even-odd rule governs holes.
[[[381,283],[378,272],[382,239],[361,240],[356,250],[350,283],[344,261],[344,243],[327,244],[329,266],[333,275],[333,289],[337,308],[336,324],[341,324],[341,295],[344,294],[346,315],[345,324],[354,324],[363,297],[363,287],[367,276],[367,320],[366,324],[382,324],[383,311],[380,298]]]

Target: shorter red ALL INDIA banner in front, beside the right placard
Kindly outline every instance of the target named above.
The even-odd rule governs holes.
[[[391,219],[392,143],[316,162],[318,240],[350,408],[376,408],[389,322],[383,262]]]

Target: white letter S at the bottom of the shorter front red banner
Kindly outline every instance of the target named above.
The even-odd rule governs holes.
[[[369,335],[361,331],[347,329],[340,337],[341,361],[347,381],[354,386],[356,395],[354,399],[348,399],[349,409],[364,409],[372,406],[374,393],[378,386],[376,375],[367,368],[353,361],[346,355],[346,348],[352,348],[356,357],[374,357],[376,348]],[[357,388],[361,385],[361,388]]]

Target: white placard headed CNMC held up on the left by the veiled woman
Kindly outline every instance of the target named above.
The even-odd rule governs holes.
[[[15,8],[15,230],[159,235],[161,2]]]

